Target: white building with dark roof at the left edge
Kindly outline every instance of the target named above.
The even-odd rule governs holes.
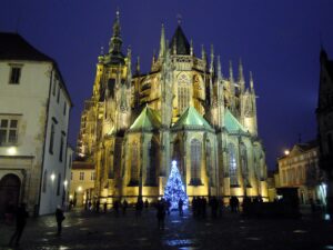
[[[34,214],[65,199],[71,99],[57,62],[17,33],[0,32],[0,214]]]

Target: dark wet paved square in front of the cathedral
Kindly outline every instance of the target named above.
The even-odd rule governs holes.
[[[246,219],[225,213],[212,220],[193,219],[190,212],[165,218],[158,229],[155,211],[135,218],[89,211],[65,214],[62,236],[56,236],[54,216],[30,218],[23,232],[22,250],[325,250],[333,249],[333,223],[319,218]],[[7,247],[13,226],[0,223],[0,249]]]

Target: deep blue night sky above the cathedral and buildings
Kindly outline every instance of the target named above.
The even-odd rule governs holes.
[[[242,58],[245,79],[253,71],[259,99],[259,134],[268,164],[275,168],[283,149],[316,136],[315,108],[321,43],[333,58],[332,0],[1,0],[0,30],[18,31],[57,60],[73,101],[70,143],[74,147],[83,100],[92,92],[97,58],[112,34],[120,10],[123,52],[131,46],[141,71],[158,51],[161,23],[170,39],[178,16],[194,53],[214,44],[222,70],[229,60],[236,74]]]

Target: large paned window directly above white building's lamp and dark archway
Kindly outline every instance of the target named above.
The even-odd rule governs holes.
[[[0,116],[0,146],[18,143],[19,119]]]

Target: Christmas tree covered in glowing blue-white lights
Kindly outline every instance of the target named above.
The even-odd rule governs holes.
[[[180,199],[183,201],[183,209],[188,208],[189,199],[176,168],[176,161],[172,161],[171,172],[164,189],[164,199],[170,200],[171,209],[178,209]]]

